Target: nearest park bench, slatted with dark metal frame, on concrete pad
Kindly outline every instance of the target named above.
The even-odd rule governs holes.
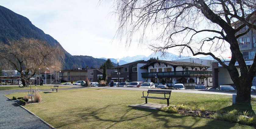
[[[161,100],[167,100],[167,106],[169,106],[169,99],[170,99],[170,96],[171,96],[171,92],[172,90],[148,90],[146,91],[149,94],[164,94],[164,97],[151,97],[151,96],[144,96],[144,91],[142,92],[143,96],[142,98],[145,98],[146,99],[146,104],[148,104],[148,98],[151,98],[151,99],[161,99]],[[167,95],[167,96],[166,96]],[[169,97],[168,97],[169,95]]]

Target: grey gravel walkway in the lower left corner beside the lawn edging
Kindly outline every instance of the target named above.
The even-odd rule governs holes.
[[[0,129],[48,129],[36,116],[9,100],[4,94],[27,90],[0,90]]]

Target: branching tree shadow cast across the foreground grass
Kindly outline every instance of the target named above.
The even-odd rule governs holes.
[[[56,128],[63,128],[63,127],[65,128],[66,126],[70,126],[70,124],[76,125],[80,123],[88,123],[90,124],[89,125],[90,128],[94,128],[93,126],[95,126],[96,128],[119,128],[120,124],[126,125],[129,122],[134,124],[141,124],[142,126],[139,126],[139,127],[143,127],[143,128],[147,126],[148,128],[154,128],[154,126],[151,127],[151,125],[149,124],[150,122],[151,124],[158,124],[157,126],[159,128],[185,128],[185,129],[206,129],[206,128],[228,129],[236,125],[236,123],[211,120],[211,119],[207,119],[205,122],[205,118],[190,117],[190,116],[184,116],[180,114],[171,114],[171,113],[161,112],[158,110],[144,109],[139,107],[128,107],[128,109],[123,110],[120,114],[114,114],[114,115],[109,114],[109,109],[115,110],[115,108],[116,108],[116,105],[107,105],[105,107],[101,107],[97,109],[92,107],[86,107],[84,109],[74,109],[73,115],[77,115],[78,118],[74,119],[73,117],[70,116],[70,114],[67,116],[63,116],[60,114],[59,116],[56,116],[56,117],[59,117],[63,120],[65,118],[64,120],[65,122],[62,122],[61,124],[57,125]],[[80,112],[76,112],[77,110],[79,110]],[[136,114],[137,111],[139,111],[138,114]],[[111,117],[109,117],[109,115]],[[146,121],[148,123],[140,123],[141,120],[148,119],[148,118],[150,119],[150,117],[156,120]],[[56,118],[56,119],[59,119],[59,118]],[[175,120],[175,123],[174,123],[174,120]],[[94,125],[94,122],[97,123],[97,125]],[[125,122],[125,123],[122,123],[122,122]],[[201,125],[200,122],[204,122],[205,124]],[[133,128],[133,125],[127,128]],[[136,126],[135,128],[138,128],[138,127]]]

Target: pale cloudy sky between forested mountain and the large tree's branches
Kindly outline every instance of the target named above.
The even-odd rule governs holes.
[[[27,17],[44,33],[51,35],[72,55],[95,58],[122,58],[145,55],[153,51],[136,42],[125,47],[112,41],[116,20],[110,12],[112,3],[98,0],[1,0],[0,5]]]

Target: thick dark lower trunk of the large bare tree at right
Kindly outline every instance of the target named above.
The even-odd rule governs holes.
[[[251,104],[251,86],[252,81],[248,81],[247,79],[239,79],[235,83],[237,93],[236,93],[236,102],[237,103],[245,103]]]

